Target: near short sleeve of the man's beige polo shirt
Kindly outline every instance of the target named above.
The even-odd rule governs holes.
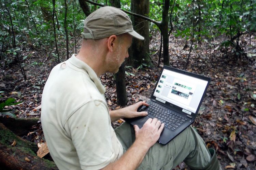
[[[66,122],[82,169],[101,169],[116,159],[109,112],[100,101],[80,107]]]

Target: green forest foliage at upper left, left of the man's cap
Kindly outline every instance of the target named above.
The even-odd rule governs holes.
[[[78,1],[68,1],[68,32],[69,39],[79,36],[83,29],[83,20],[85,15],[81,10]],[[56,15],[59,22],[59,28],[56,29],[59,48],[65,48],[66,38],[64,31],[64,10],[63,1],[56,0]],[[45,48],[54,52],[54,33],[53,33],[53,4],[51,0],[10,0],[1,2],[0,6],[0,46],[2,47],[2,58],[6,59],[11,54],[16,55],[13,49],[13,34],[10,17],[15,34],[16,46],[22,49],[24,45],[30,45],[35,49]],[[75,30],[73,24],[75,22]],[[57,28],[57,21],[55,17]],[[73,46],[73,44],[71,44]],[[10,51],[11,50],[11,51]],[[62,50],[63,51],[63,50]],[[65,56],[65,51],[63,54]],[[26,58],[24,58],[26,60]]]

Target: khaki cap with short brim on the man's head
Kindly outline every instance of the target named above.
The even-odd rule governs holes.
[[[82,37],[99,39],[124,33],[144,40],[143,36],[133,30],[131,20],[126,13],[112,6],[105,6],[94,11],[85,19]]]

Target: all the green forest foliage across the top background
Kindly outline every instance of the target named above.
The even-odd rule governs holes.
[[[105,0],[98,0],[100,4]],[[130,11],[131,0],[120,0],[121,7]],[[68,32],[69,39],[80,36],[83,30],[83,20],[85,15],[76,0],[68,3]],[[108,5],[110,5],[108,1]],[[58,48],[65,49],[66,37],[64,30],[64,2],[56,0],[56,36]],[[91,12],[97,10],[99,6],[89,4]],[[194,10],[193,10],[194,9]],[[163,10],[163,0],[150,0],[149,18],[161,21]],[[222,43],[223,46],[235,47],[235,39],[231,39],[239,33],[256,31],[256,1],[255,0],[170,0],[169,12],[172,10],[172,21],[175,36],[181,36],[186,40],[191,39],[191,34],[195,28],[195,39],[198,41],[208,41],[219,35],[226,35],[228,38]],[[9,11],[9,12],[8,12]],[[3,1],[0,5],[0,46],[1,57],[6,63],[13,62],[17,54],[15,50],[29,45],[35,49],[45,48],[56,58],[53,21],[53,4],[51,0],[10,0]],[[193,12],[195,17],[193,16]],[[13,47],[13,34],[11,15],[16,48]],[[74,18],[74,19],[73,19]],[[58,25],[57,20],[58,19]],[[193,24],[194,21],[194,24]],[[74,23],[73,23],[74,22]],[[150,22],[150,32],[159,28]],[[72,41],[73,42],[73,41]],[[74,44],[70,44],[71,48]],[[65,50],[59,50],[62,60],[65,60]],[[241,51],[235,51],[240,55]],[[30,57],[23,57],[28,60]]]

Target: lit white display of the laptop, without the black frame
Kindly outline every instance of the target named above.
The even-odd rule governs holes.
[[[179,106],[184,113],[196,113],[208,81],[163,69],[153,96]]]

